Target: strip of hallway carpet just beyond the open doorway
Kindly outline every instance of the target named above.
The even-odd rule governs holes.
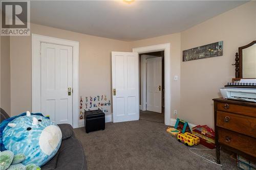
[[[152,122],[164,123],[164,113],[140,110],[140,119]]]

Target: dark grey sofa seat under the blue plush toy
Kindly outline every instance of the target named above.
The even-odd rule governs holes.
[[[9,115],[1,108],[0,123],[9,118]],[[86,158],[81,142],[75,137],[73,128],[69,124],[58,125],[62,132],[62,141],[57,154],[44,166],[42,170],[80,170],[87,169]]]

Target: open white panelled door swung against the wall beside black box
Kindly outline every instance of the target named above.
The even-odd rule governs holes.
[[[138,54],[112,52],[113,122],[139,119]]]

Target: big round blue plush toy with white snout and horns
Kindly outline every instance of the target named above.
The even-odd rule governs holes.
[[[29,111],[4,120],[0,133],[1,151],[24,154],[24,165],[47,163],[57,153],[62,138],[59,127],[48,117]]]

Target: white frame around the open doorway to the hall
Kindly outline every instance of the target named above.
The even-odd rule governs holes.
[[[133,48],[138,55],[157,51],[164,51],[164,124],[170,125],[170,43]]]

